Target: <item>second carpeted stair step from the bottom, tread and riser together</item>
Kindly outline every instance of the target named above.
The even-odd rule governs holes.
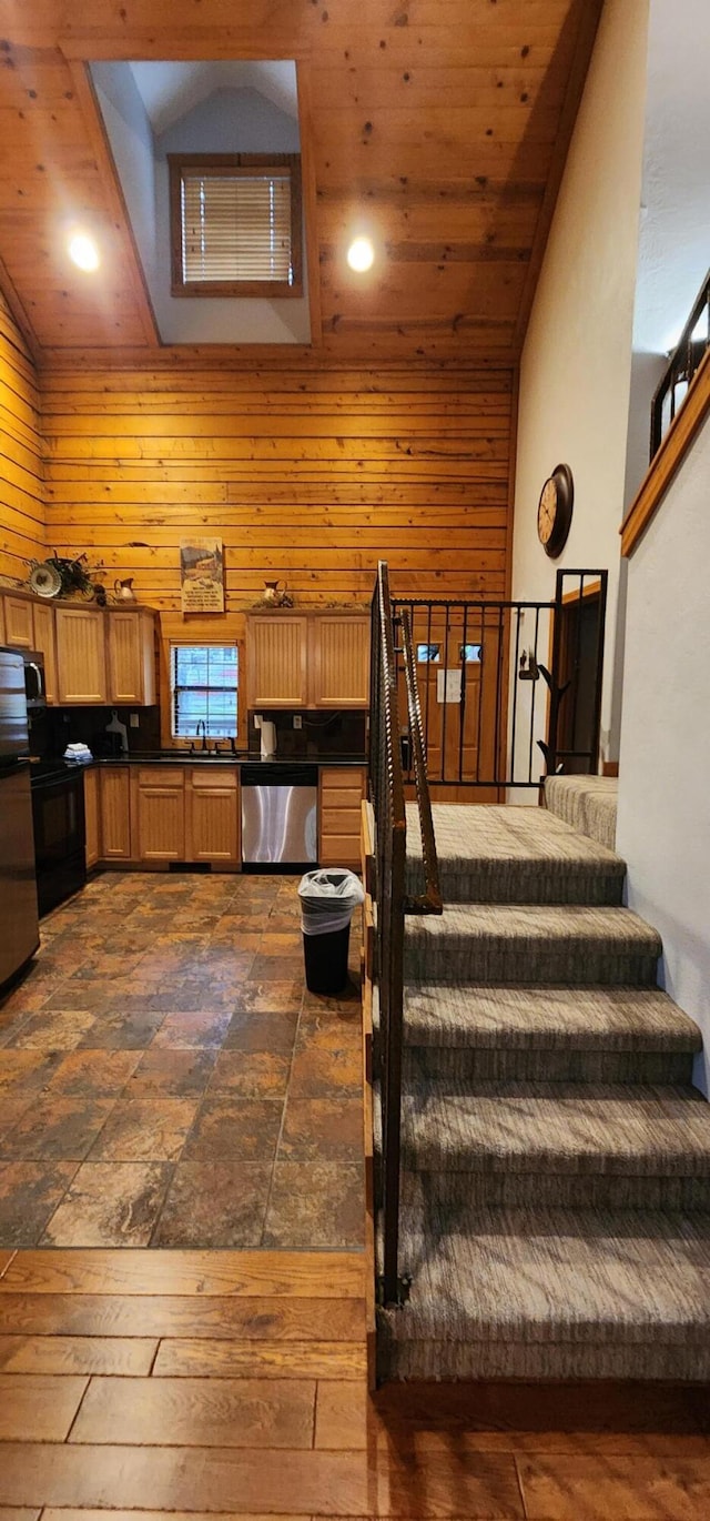
[[[710,1106],[693,1088],[432,1084],[403,1097],[407,1199],[435,1229],[482,1205],[710,1212]],[[423,1174],[423,1176],[420,1176]]]

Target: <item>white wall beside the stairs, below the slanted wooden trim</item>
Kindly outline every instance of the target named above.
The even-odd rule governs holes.
[[[701,1027],[710,1091],[710,421],[628,566],[617,850],[663,937],[661,986]]]

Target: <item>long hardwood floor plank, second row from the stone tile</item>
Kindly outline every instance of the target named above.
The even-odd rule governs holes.
[[[333,1269],[336,1275],[336,1267]],[[357,1342],[363,1299],[190,1294],[0,1294],[0,1332]]]

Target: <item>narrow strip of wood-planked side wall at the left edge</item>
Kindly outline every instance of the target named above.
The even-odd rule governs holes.
[[[0,294],[0,575],[44,558],[43,440],[33,360]]]

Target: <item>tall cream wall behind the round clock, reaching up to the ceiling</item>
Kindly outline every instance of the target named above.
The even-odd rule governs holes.
[[[648,0],[607,0],[520,368],[512,596],[552,598],[558,567],[608,569],[604,757],[611,751],[646,30]],[[575,513],[552,561],[537,538],[537,503],[559,461],[572,465]]]

